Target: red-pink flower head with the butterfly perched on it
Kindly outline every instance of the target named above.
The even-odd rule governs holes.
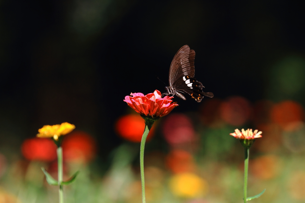
[[[124,102],[127,102],[128,106],[138,112],[142,117],[160,118],[166,116],[178,106],[177,102],[172,103],[170,96],[161,98],[161,92],[155,90],[154,93],[144,94],[142,93],[130,93],[131,96],[126,96]]]

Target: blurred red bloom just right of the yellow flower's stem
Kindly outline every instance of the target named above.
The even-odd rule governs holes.
[[[63,139],[63,160],[65,162],[90,162],[96,154],[93,137],[83,131],[74,131]]]

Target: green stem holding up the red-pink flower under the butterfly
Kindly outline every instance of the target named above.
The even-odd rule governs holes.
[[[141,148],[140,148],[140,171],[141,171],[141,183],[142,183],[142,203],[145,203],[145,181],[144,181],[144,148],[145,148],[145,141],[147,138],[147,135],[149,133],[149,130],[152,127],[152,124],[154,121],[145,119],[145,130],[142,135],[141,140]]]

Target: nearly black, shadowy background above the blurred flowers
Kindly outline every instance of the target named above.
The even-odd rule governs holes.
[[[216,98],[241,95],[254,102],[272,92],[280,97],[274,101],[303,104],[302,88],[291,95],[271,84],[274,64],[304,58],[301,5],[0,0],[1,145],[19,148],[43,125],[69,122],[91,133],[100,155],[107,155],[122,142],[113,126],[129,111],[124,97],[164,91],[162,81],[168,83],[171,60],[183,45],[196,51],[195,77]],[[200,105],[175,101],[175,112]]]

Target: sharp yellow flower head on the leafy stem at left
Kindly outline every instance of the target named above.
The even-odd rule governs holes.
[[[36,137],[53,137],[54,140],[58,140],[58,137],[61,135],[65,135],[74,130],[75,126],[70,123],[62,123],[53,126],[43,126],[38,130],[38,134]]]

